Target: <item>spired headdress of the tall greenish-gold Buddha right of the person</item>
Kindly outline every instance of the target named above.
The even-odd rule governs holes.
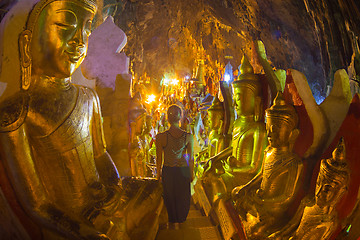
[[[259,95],[261,84],[258,77],[254,74],[254,69],[250,64],[249,59],[245,55],[241,60],[240,72],[241,74],[238,76],[238,79],[232,83],[233,87],[248,87],[256,95]]]

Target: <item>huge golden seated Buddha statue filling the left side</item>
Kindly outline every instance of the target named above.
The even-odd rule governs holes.
[[[44,239],[124,239],[147,210],[127,194],[106,151],[96,92],[70,80],[85,58],[97,1],[17,4],[2,28],[19,45],[2,54],[2,69],[15,70],[1,80],[10,76],[21,89],[0,103],[0,154],[18,202]],[[144,207],[156,205],[151,199]]]

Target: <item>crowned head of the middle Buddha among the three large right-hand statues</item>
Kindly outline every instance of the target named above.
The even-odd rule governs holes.
[[[299,135],[296,128],[298,116],[294,107],[285,102],[281,92],[276,95],[274,104],[265,110],[265,118],[270,147],[289,147],[291,150]]]

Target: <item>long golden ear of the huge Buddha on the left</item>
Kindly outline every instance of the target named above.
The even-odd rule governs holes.
[[[30,42],[31,31],[25,30],[19,37],[20,65],[21,65],[21,88],[27,90],[31,80],[31,55]]]

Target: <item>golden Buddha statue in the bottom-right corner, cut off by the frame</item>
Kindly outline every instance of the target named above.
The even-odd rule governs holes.
[[[295,216],[270,239],[329,239],[339,227],[336,204],[347,191],[350,170],[341,138],[332,158],[323,159],[316,181],[315,196],[301,201]]]

